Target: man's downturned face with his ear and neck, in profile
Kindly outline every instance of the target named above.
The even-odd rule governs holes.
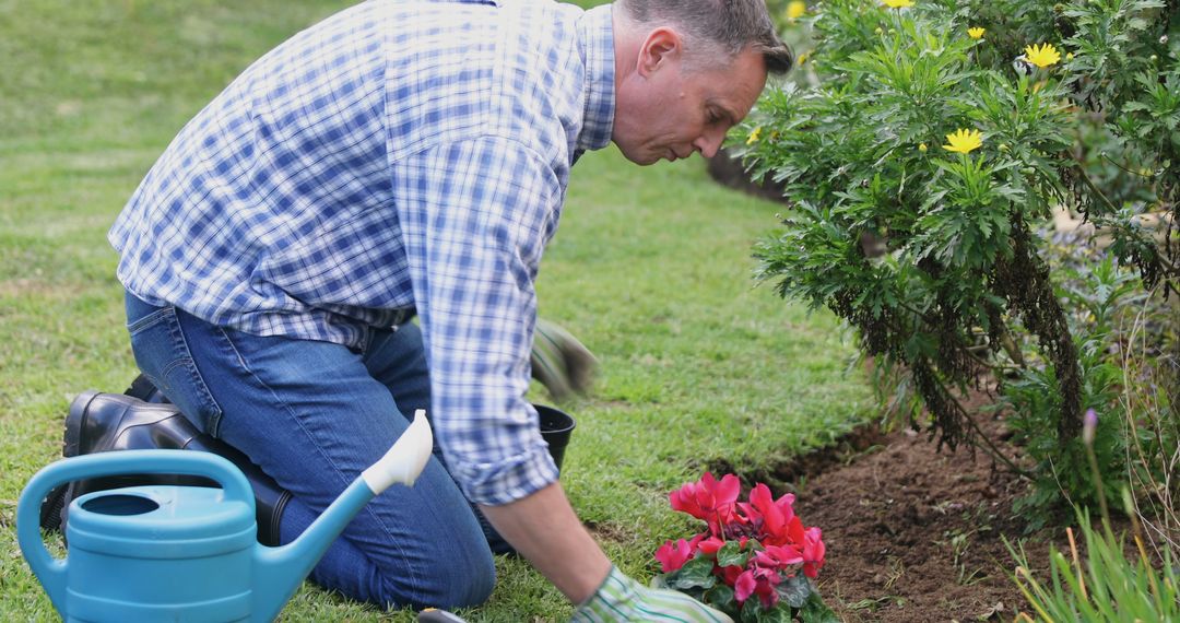
[[[656,31],[638,68],[618,85],[611,135],[627,159],[653,164],[712,157],[726,132],[749,113],[766,85],[762,55],[746,51],[730,63],[686,66],[680,39]]]

